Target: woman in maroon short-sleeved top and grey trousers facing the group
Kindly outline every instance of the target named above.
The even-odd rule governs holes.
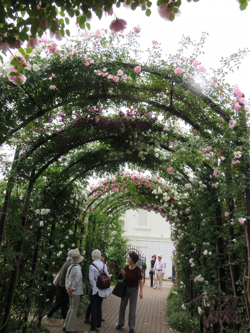
[[[116,329],[119,330],[122,326],[124,326],[126,306],[129,300],[129,315],[128,315],[129,333],[134,333],[134,328],[135,328],[135,310],[136,310],[137,296],[139,290],[138,284],[140,285],[140,298],[143,297],[141,269],[138,266],[136,266],[138,259],[139,257],[134,251],[130,252],[128,257],[129,265],[125,267],[125,271],[122,270],[122,276],[125,276],[126,278],[127,295],[121,299],[119,322],[118,325],[116,326]]]

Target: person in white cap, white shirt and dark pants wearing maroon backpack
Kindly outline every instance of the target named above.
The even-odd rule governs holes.
[[[85,331],[84,333],[95,333],[95,332],[101,332],[101,326],[102,326],[102,300],[103,297],[109,296],[112,289],[111,287],[106,289],[99,289],[96,286],[96,281],[98,276],[100,275],[100,272],[98,269],[102,272],[103,270],[103,262],[101,259],[101,252],[99,250],[94,250],[92,252],[92,259],[93,265],[89,266],[89,281],[91,284],[91,290],[89,294],[90,298],[90,306],[91,306],[91,325],[90,329],[88,331]],[[104,272],[109,275],[107,265],[104,264]]]

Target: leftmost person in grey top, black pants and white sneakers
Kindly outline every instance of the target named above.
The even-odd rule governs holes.
[[[69,266],[71,265],[72,254],[75,253],[75,250],[70,250],[68,252],[68,257],[65,263],[62,266],[61,276],[58,282],[58,302],[53,306],[53,308],[43,317],[47,326],[52,326],[51,317],[53,314],[61,308],[62,321],[61,324],[65,323],[68,310],[68,300],[69,295],[65,287],[65,279]]]

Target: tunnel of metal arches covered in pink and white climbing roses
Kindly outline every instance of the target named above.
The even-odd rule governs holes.
[[[249,328],[248,107],[225,82],[247,51],[209,75],[205,34],[166,60],[155,42],[141,63],[137,33],[43,43],[24,66],[27,48],[14,55],[26,68],[20,87],[3,66],[1,143],[15,157],[1,160],[1,332],[41,325],[68,248],[84,253],[85,281],[94,248],[119,269],[127,209],[170,223],[185,318],[214,332]]]

